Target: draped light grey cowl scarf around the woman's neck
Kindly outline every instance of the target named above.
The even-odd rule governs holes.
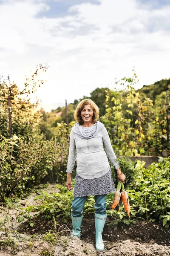
[[[77,122],[71,130],[81,139],[91,139],[94,138],[103,127],[104,125],[99,121],[90,127],[83,127]]]

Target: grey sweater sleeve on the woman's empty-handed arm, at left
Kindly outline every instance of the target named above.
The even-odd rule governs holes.
[[[75,145],[75,140],[74,140],[74,132],[71,131],[70,133],[70,147],[69,147],[69,155],[68,155],[68,163],[67,163],[67,171],[71,173],[74,168],[76,160],[76,145]]]

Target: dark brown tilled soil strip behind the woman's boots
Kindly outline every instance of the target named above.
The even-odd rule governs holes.
[[[161,222],[136,221],[136,224],[108,226],[112,221],[108,218],[103,230],[103,239],[110,242],[125,240],[139,243],[170,246],[170,230],[164,228]],[[92,240],[95,234],[94,221],[85,219],[82,222],[82,239]]]

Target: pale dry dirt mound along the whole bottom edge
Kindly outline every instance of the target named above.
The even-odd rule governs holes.
[[[105,250],[99,252],[95,249],[95,241],[88,243],[77,237],[62,236],[56,242],[57,245],[51,245],[41,236],[37,237],[36,241],[30,241],[29,236],[20,235],[20,241],[11,245],[2,245],[1,242],[0,256],[170,256],[170,246],[156,243],[141,244],[130,240],[113,243],[105,241]]]

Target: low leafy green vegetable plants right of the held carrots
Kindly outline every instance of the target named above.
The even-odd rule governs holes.
[[[138,166],[139,167],[139,166]],[[147,221],[162,220],[163,226],[170,227],[170,159],[159,158],[150,168],[142,169],[141,178],[135,189],[127,190],[130,202],[130,220],[127,220],[122,202],[118,211],[109,210],[115,218],[111,224],[133,223],[136,218]],[[113,196],[108,195],[108,204]]]

